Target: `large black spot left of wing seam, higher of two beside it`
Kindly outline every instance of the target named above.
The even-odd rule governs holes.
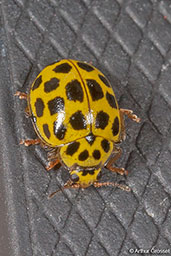
[[[83,89],[78,80],[73,80],[66,85],[66,95],[68,100],[83,101]]]

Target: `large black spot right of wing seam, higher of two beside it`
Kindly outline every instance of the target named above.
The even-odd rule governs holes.
[[[93,101],[103,98],[104,94],[102,88],[96,80],[86,79],[86,82]]]

